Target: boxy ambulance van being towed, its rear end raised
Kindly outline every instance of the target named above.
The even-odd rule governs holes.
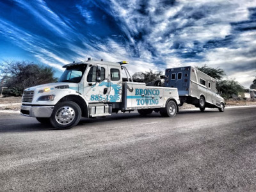
[[[191,66],[166,68],[165,75],[164,86],[178,88],[180,106],[186,102],[195,105],[201,111],[205,108],[218,108],[220,112],[224,111],[225,100],[217,93],[216,79]]]

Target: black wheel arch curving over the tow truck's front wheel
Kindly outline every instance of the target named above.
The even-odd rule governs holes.
[[[82,95],[66,95],[65,97],[62,97],[58,102],[66,100],[76,102],[76,104],[78,104],[78,106],[81,108],[82,116],[89,117],[88,102],[86,102]]]

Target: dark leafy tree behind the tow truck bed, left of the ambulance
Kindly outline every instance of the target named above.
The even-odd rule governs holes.
[[[136,72],[132,75],[132,79],[141,79],[145,83],[149,83],[151,81],[155,81],[157,79],[160,79],[160,76],[162,75],[161,71],[153,72],[151,69],[149,72]]]

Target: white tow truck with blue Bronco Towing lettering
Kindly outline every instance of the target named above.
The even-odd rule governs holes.
[[[81,116],[95,118],[118,111],[138,110],[141,115],[156,111],[175,116],[180,104],[177,88],[133,82],[124,67],[127,63],[88,58],[64,65],[66,70],[58,83],[24,90],[20,113],[58,129],[74,127]]]

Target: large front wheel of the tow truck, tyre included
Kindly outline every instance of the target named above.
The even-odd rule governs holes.
[[[81,119],[81,108],[72,101],[63,101],[57,104],[50,118],[53,127],[57,129],[70,129]]]

